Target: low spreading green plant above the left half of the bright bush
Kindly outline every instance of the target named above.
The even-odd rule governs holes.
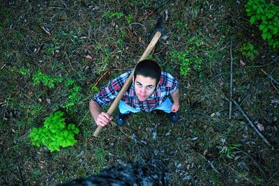
[[[44,86],[49,88],[54,88],[54,84],[56,82],[61,83],[61,77],[49,77],[48,75],[43,74],[42,72],[38,71],[33,75],[33,85],[37,85],[43,83]]]

